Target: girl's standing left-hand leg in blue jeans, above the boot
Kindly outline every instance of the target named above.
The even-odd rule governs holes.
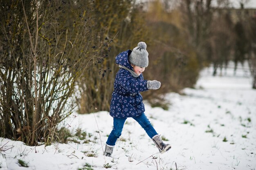
[[[125,121],[126,118],[114,118],[113,130],[108,136],[108,140],[106,142],[107,145],[115,146],[117,139],[121,136]]]

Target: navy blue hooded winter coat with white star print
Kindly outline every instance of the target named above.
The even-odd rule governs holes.
[[[116,56],[116,63],[134,71],[128,62],[131,52],[131,50],[121,52]],[[116,118],[126,118],[137,117],[144,113],[145,107],[139,92],[147,90],[147,80],[143,79],[142,74],[139,77],[132,77],[128,70],[120,68],[114,82],[110,115]]]

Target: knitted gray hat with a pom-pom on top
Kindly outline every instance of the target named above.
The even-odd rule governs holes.
[[[129,62],[132,65],[139,67],[148,66],[148,51],[146,51],[147,45],[145,42],[139,42],[129,55]]]

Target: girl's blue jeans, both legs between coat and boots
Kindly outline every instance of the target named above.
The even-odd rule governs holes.
[[[135,119],[140,124],[140,126],[142,128],[144,128],[144,130],[146,131],[146,133],[148,134],[150,139],[152,139],[152,137],[157,135],[157,132],[155,131],[153,126],[150,124],[150,121],[148,120],[148,118],[146,117],[146,115],[144,113],[142,113],[138,117],[132,117],[132,118]],[[113,130],[111,131],[110,135],[108,136],[108,140],[107,140],[106,144],[108,144],[110,146],[115,145],[117,139],[121,136],[121,132],[123,130],[124,122],[126,121],[126,119],[127,118],[114,118]]]

